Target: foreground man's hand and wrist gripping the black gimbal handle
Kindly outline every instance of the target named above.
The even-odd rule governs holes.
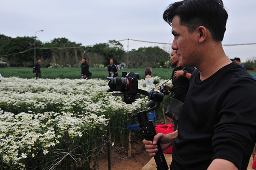
[[[160,142],[160,146],[162,148],[162,150],[166,150],[167,148],[169,148],[173,142],[174,142],[174,139],[177,137],[178,135],[178,131],[175,131],[173,133],[169,133],[167,135],[164,135],[162,133],[158,133],[154,139],[153,139],[153,142],[150,141],[150,140],[146,140],[144,139],[142,141],[142,143],[145,144],[145,148],[146,148],[146,151],[149,153],[150,156],[155,156],[156,153],[158,151],[157,149],[157,142],[159,141]]]

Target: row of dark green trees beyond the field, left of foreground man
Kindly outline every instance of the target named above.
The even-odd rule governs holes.
[[[110,58],[129,68],[170,67],[170,54],[158,46],[132,49],[127,53],[116,40],[83,46],[65,37],[42,43],[36,37],[12,38],[3,34],[0,34],[0,67],[32,67],[34,49],[36,58],[42,58],[42,67],[79,67],[83,57],[91,67],[106,67]]]

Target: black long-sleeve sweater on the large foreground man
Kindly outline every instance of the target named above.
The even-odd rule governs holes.
[[[246,170],[256,141],[256,81],[231,63],[201,81],[190,77],[171,170],[207,169],[213,159]]]

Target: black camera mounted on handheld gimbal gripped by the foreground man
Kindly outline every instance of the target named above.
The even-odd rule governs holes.
[[[156,110],[160,103],[163,100],[163,94],[161,92],[155,91],[154,88],[150,92],[138,88],[138,73],[128,73],[127,75],[123,72],[122,78],[112,78],[107,77],[109,82],[110,89],[107,92],[112,91],[121,91],[122,93],[113,93],[113,96],[121,96],[122,101],[131,104],[132,102],[136,101],[136,96],[144,95],[148,96],[149,102],[147,106],[151,108],[140,111],[132,115],[132,118],[137,117],[139,121],[140,130],[139,133],[146,139],[153,141],[154,136],[156,135],[155,126],[152,120],[149,120],[147,117],[147,113]],[[167,170],[168,165],[163,155],[160,143],[157,143],[156,155],[154,156],[156,162],[157,170]]]

